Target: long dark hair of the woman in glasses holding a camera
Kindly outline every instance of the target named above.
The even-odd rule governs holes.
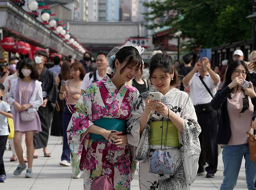
[[[235,70],[235,68],[237,68],[237,66],[242,65],[245,69],[245,71],[247,71],[247,75],[245,80],[250,81],[251,77],[248,71],[248,68],[246,66],[246,64],[244,63],[244,61],[240,61],[240,60],[236,60],[236,61],[231,61],[231,63],[229,64],[226,73],[224,75],[223,78],[223,85],[221,86],[221,89],[224,89],[225,87],[227,87],[231,82],[231,75],[233,74],[233,71]],[[231,95],[231,94],[230,94]],[[231,98],[231,96],[228,96],[229,98]]]

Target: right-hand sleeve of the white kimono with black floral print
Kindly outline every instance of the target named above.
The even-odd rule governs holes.
[[[179,132],[179,142],[186,181],[191,185],[195,181],[198,170],[198,159],[201,152],[198,136],[201,132],[201,127],[197,122],[195,108],[189,95],[184,93],[184,96],[186,97],[181,113],[183,132]]]

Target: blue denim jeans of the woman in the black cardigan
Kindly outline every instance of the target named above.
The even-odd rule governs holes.
[[[222,159],[224,164],[224,179],[220,190],[233,190],[237,184],[243,157],[245,159],[247,188],[248,190],[256,190],[254,187],[254,181],[256,179],[256,162],[250,160],[248,144],[223,146]]]

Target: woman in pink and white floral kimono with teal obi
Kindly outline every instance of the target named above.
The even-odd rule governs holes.
[[[67,136],[75,174],[84,170],[84,190],[91,189],[92,181],[102,170],[111,178],[114,190],[130,190],[131,154],[126,121],[139,92],[126,82],[142,69],[143,51],[135,45],[110,51],[109,64],[114,74],[91,84],[74,108]],[[112,130],[115,132],[111,133]]]

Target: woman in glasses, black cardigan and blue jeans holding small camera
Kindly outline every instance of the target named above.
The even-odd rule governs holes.
[[[256,93],[244,61],[233,61],[228,66],[224,83],[212,99],[214,110],[221,109],[216,143],[223,148],[224,179],[220,190],[233,190],[245,159],[247,188],[256,190],[256,162],[249,157],[248,135],[256,109]],[[255,129],[256,127],[254,127]]]

